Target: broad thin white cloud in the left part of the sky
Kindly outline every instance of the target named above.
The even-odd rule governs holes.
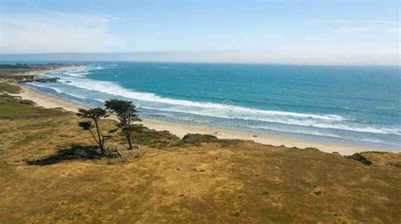
[[[42,14],[0,16],[2,53],[107,52],[124,48],[109,33],[118,18],[104,15]]]

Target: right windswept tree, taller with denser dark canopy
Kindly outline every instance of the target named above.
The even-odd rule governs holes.
[[[141,121],[136,111],[136,106],[132,101],[119,99],[111,99],[105,102],[105,107],[112,113],[117,115],[119,123],[117,127],[121,129],[122,134],[126,137],[129,149],[132,149],[131,133],[136,129],[135,121]]]

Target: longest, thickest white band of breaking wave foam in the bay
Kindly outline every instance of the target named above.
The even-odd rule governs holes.
[[[254,108],[239,107],[233,105],[230,101],[228,103],[209,103],[209,102],[195,102],[188,100],[178,100],[166,97],[160,97],[154,93],[142,93],[125,89],[117,83],[109,81],[95,81],[85,78],[73,78],[73,85],[79,88],[96,91],[87,97],[96,99],[99,101],[105,101],[113,97],[127,97],[135,99],[135,102],[139,107],[145,109],[157,109],[159,111],[172,111],[191,113],[195,115],[206,115],[211,117],[221,118],[239,118],[249,119],[254,121],[265,121],[270,123],[283,123],[289,125],[299,125],[306,127],[315,127],[322,129],[341,129],[348,131],[367,132],[367,133],[380,133],[380,134],[394,134],[401,135],[401,128],[384,128],[375,127],[371,124],[356,124],[348,123],[348,121],[338,115],[318,115],[310,113],[294,113],[288,111],[267,111]],[[52,88],[55,89],[55,88]],[[57,92],[59,90],[55,89]],[[81,92],[81,91],[80,91]],[[67,94],[76,94],[73,92],[66,91]],[[99,94],[104,93],[105,99],[99,99]],[[82,94],[79,94],[82,95]],[[89,95],[89,94],[87,94]],[[77,95],[75,95],[77,96]],[[81,97],[85,98],[85,97]],[[312,135],[318,135],[313,134]],[[323,134],[322,134],[323,135]],[[334,137],[334,136],[333,136]]]

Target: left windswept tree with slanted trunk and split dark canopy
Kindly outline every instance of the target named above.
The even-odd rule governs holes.
[[[97,137],[95,137],[95,134],[92,131],[93,125],[91,121],[83,121],[79,122],[79,127],[81,127],[83,130],[88,130],[92,134],[93,139],[99,145],[99,148],[101,150],[102,154],[105,154],[106,150],[104,148],[104,142],[105,142],[105,137],[101,133],[101,129],[99,128],[99,120],[101,118],[106,118],[109,117],[109,112],[106,109],[97,107],[97,108],[91,108],[88,110],[85,109],[78,109],[77,116],[81,118],[88,118],[92,119],[93,122],[95,123],[95,128],[96,128],[96,133]]]

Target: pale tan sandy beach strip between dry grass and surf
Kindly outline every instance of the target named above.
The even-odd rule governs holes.
[[[66,111],[77,112],[78,108],[89,108],[88,105],[68,101],[66,99],[60,99],[54,95],[48,93],[38,92],[26,86],[19,85],[24,92],[20,93],[22,99],[29,99],[34,101],[38,106],[45,108],[63,107]],[[180,123],[168,123],[165,121],[159,121],[156,119],[143,119],[141,123],[150,129],[157,131],[170,131],[170,133],[177,135],[182,138],[187,133],[199,133],[199,134],[211,134],[215,135],[219,139],[241,139],[241,140],[252,140],[257,143],[265,145],[280,146],[285,145],[286,147],[297,147],[304,149],[307,147],[317,148],[325,153],[338,152],[341,155],[352,155],[362,151],[388,151],[375,147],[365,147],[361,145],[348,145],[338,143],[322,143],[314,141],[306,141],[300,139],[294,139],[290,137],[282,137],[269,135],[264,133],[257,133],[257,137],[254,137],[255,133],[250,131],[240,131],[234,129],[225,129],[220,127],[213,127],[211,125],[184,125]],[[397,153],[399,151],[391,151]]]

